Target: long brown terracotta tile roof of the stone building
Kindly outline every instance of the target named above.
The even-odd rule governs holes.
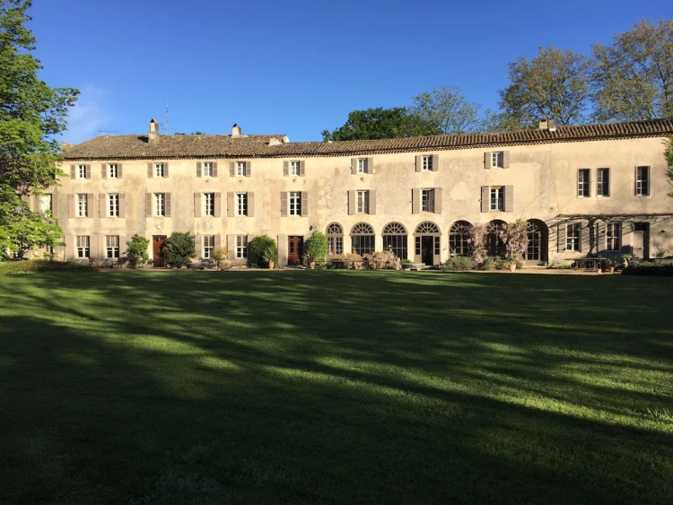
[[[602,125],[557,126],[548,130],[467,135],[432,135],[381,140],[296,142],[269,145],[284,135],[170,135],[149,143],[147,135],[107,135],[63,152],[66,160],[132,160],[170,158],[286,158],[344,156],[385,152],[445,151],[521,144],[551,144],[673,135],[673,118]]]

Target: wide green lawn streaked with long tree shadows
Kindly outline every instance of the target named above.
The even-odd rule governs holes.
[[[0,503],[670,503],[673,282],[0,276]]]

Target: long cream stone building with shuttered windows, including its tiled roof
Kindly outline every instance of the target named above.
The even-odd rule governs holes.
[[[135,233],[154,266],[173,231],[197,257],[247,256],[252,236],[278,239],[298,262],[312,231],[332,254],[393,248],[437,265],[468,254],[469,227],[529,222],[529,262],[588,253],[673,254],[673,198],[663,139],[673,120],[558,126],[504,133],[290,143],[284,135],[105,135],[65,150],[51,206],[66,258],[124,257]]]

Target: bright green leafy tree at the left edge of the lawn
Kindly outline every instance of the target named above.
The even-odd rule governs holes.
[[[62,161],[55,135],[66,130],[67,109],[79,91],[50,88],[31,56],[31,0],[0,0],[0,250],[57,246],[63,232],[50,212],[32,212],[22,196],[55,185]]]

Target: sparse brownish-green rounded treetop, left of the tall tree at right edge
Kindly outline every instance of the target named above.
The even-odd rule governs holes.
[[[572,125],[585,118],[590,99],[590,60],[571,50],[538,48],[538,57],[508,64],[511,84],[500,90],[500,107],[514,125],[538,126],[540,118]]]

